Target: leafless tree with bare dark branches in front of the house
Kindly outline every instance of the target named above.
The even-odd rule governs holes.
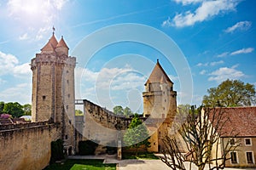
[[[224,142],[221,136],[235,138],[235,134],[224,134],[225,123],[230,121],[229,116],[221,108],[203,108],[195,111],[179,111],[178,130],[176,135],[167,133],[162,141],[164,144],[163,157],[161,161],[165,162],[172,169],[186,169],[184,162],[189,162],[189,169],[195,164],[199,170],[206,166],[210,170],[223,169],[225,162],[230,159],[230,151],[236,150],[238,144],[229,144]],[[185,144],[187,154],[181,153],[177,142],[177,135],[180,135]],[[230,139],[228,139],[230,141]],[[236,143],[239,141],[237,140]]]

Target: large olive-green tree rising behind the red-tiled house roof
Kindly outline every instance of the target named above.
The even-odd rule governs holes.
[[[253,84],[244,83],[239,80],[226,80],[217,88],[207,89],[209,95],[203,97],[203,105],[213,106],[247,106],[254,105],[256,99]]]

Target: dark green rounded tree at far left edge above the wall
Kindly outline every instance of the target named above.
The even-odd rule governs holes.
[[[3,112],[12,115],[13,117],[20,117],[24,115],[24,111],[22,110],[22,105],[18,102],[12,103],[9,102],[4,104]]]

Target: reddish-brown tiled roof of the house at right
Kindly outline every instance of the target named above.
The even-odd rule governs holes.
[[[231,133],[240,137],[256,137],[256,107],[226,107],[221,110],[224,111],[224,119],[229,119],[221,130],[223,137]]]

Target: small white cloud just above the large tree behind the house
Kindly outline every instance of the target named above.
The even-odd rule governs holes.
[[[208,78],[209,81],[216,81],[218,83],[225,81],[226,79],[239,79],[245,77],[242,71],[237,71],[236,67],[238,65],[233,65],[229,67],[221,67],[217,71],[212,71],[211,76]]]

